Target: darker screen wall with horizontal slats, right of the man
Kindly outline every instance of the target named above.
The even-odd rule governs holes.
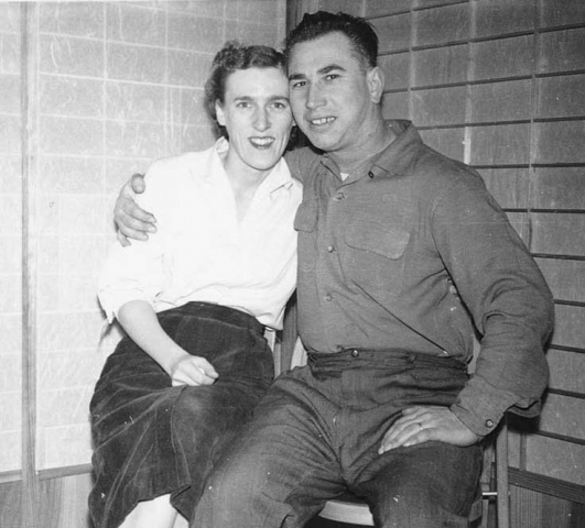
[[[375,25],[384,117],[411,119],[433,147],[476,167],[537,258],[556,305],[551,381],[540,420],[512,436],[511,476],[584,503],[585,2],[301,3]],[[545,499],[538,501],[539,520],[552,526]],[[578,522],[575,509],[567,520],[572,507],[583,515],[573,505],[561,517]],[[516,515],[514,526],[539,526]]]

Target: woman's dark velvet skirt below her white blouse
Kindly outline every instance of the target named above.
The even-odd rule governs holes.
[[[159,314],[159,320],[219,377],[213,385],[173,387],[132,340],[120,341],[90,403],[95,528],[118,527],[139,501],[165,494],[188,519],[207,475],[273,377],[272,353],[253,317],[189,302]]]

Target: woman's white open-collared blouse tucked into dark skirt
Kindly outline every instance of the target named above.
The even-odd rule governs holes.
[[[301,184],[281,160],[256,191],[241,222],[219,154],[212,148],[155,162],[138,204],[158,220],[147,242],[115,243],[99,279],[108,320],[130,300],[154,311],[192,300],[215,302],[282,328],[284,305],[296,285],[293,221]]]

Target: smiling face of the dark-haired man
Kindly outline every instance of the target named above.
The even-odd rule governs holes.
[[[296,124],[316,147],[356,148],[377,125],[381,97],[372,84],[377,68],[366,69],[343,33],[295,44],[289,61],[291,107]],[[372,74],[373,73],[373,74]]]

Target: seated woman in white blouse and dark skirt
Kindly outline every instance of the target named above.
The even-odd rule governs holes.
[[[227,44],[206,103],[223,138],[152,165],[139,200],[156,233],[116,244],[100,277],[128,337],[90,404],[96,528],[189,518],[273,376],[263,330],[281,328],[294,289],[302,194],[281,160],[293,127],[283,56]]]

